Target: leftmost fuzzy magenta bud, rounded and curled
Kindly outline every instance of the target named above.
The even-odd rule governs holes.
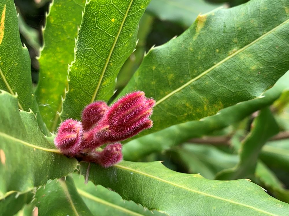
[[[55,146],[67,156],[75,156],[82,139],[82,124],[73,119],[66,119],[59,128],[54,139]]]

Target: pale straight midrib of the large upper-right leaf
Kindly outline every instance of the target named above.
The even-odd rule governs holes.
[[[267,33],[265,33],[264,35],[262,35],[261,37],[257,38],[256,40],[254,40],[253,42],[249,43],[248,45],[244,46],[243,48],[241,48],[240,50],[237,50],[236,52],[234,52],[233,54],[231,54],[230,56],[228,56],[227,58],[224,58],[222,61],[218,62],[216,65],[210,67],[208,70],[204,71],[203,73],[201,73],[200,75],[198,75],[197,77],[191,79],[189,82],[187,82],[186,84],[182,85],[181,87],[177,88],[176,90],[172,91],[171,93],[167,94],[166,96],[164,96],[163,98],[161,98],[160,100],[158,100],[155,103],[155,106],[157,106],[158,104],[162,103],[163,101],[165,101],[166,99],[168,99],[170,96],[172,96],[173,94],[179,92],[180,90],[182,90],[183,88],[187,87],[188,85],[190,85],[192,82],[196,81],[197,79],[200,79],[201,77],[203,77],[204,75],[206,75],[207,73],[209,73],[210,71],[212,71],[213,69],[215,69],[216,67],[218,67],[219,65],[223,64],[224,62],[226,62],[227,60],[231,59],[232,57],[236,56],[237,54],[239,54],[240,52],[244,51],[245,49],[247,49],[248,47],[252,46],[253,44],[255,44],[256,42],[260,41],[262,38],[266,37],[267,35],[271,34],[272,32],[274,32],[276,29],[278,29],[279,27],[283,26],[284,24],[286,24],[287,22],[289,22],[289,19],[284,21],[283,23],[281,23],[280,25],[278,25],[277,27],[275,27],[274,29],[272,29],[271,31],[268,31]]]

